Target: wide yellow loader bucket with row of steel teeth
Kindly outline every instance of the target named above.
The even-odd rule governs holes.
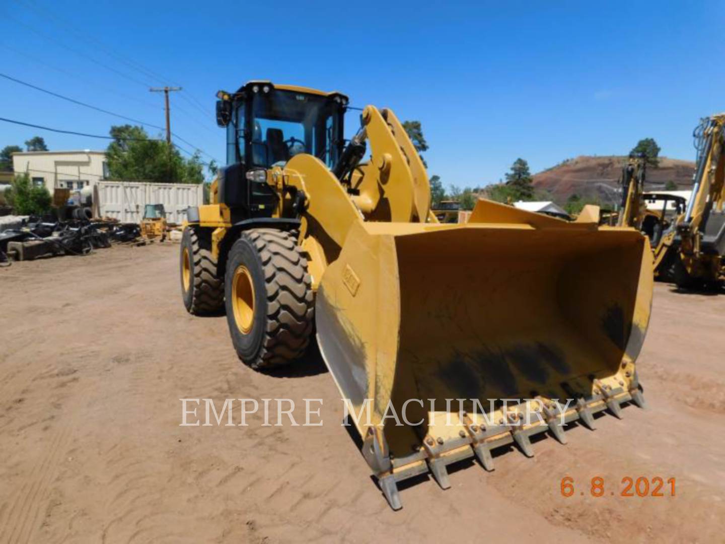
[[[463,225],[357,223],[320,281],[318,342],[393,508],[395,482],[642,405],[652,255],[633,228],[479,203]],[[367,418],[367,411],[370,418]],[[405,419],[404,419],[405,417]]]

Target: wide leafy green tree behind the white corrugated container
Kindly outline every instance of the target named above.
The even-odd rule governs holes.
[[[106,160],[112,178],[186,184],[204,181],[198,153],[186,160],[165,141],[149,139],[140,126],[112,126],[110,134],[113,141],[106,149]]]

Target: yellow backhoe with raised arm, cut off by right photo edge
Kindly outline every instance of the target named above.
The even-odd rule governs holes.
[[[725,113],[695,129],[697,166],[687,209],[667,233],[668,261],[679,287],[713,287],[725,280]]]

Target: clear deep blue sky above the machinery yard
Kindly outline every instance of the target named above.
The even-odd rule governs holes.
[[[148,86],[181,85],[172,130],[220,162],[218,89],[338,89],[421,120],[428,172],[482,186],[517,157],[536,172],[647,136],[692,160],[697,120],[725,110],[724,16],[707,1],[4,0],[0,72],[157,125],[162,95]],[[0,117],[101,134],[124,123],[3,79]],[[36,134],[51,149],[107,144],[0,123],[0,147]]]

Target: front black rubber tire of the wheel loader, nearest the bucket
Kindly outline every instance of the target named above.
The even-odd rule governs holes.
[[[249,271],[254,292],[251,329],[237,326],[232,284],[236,269]],[[234,349],[252,368],[291,363],[310,344],[315,313],[307,259],[293,234],[274,228],[244,231],[229,251],[225,273],[225,306]]]

